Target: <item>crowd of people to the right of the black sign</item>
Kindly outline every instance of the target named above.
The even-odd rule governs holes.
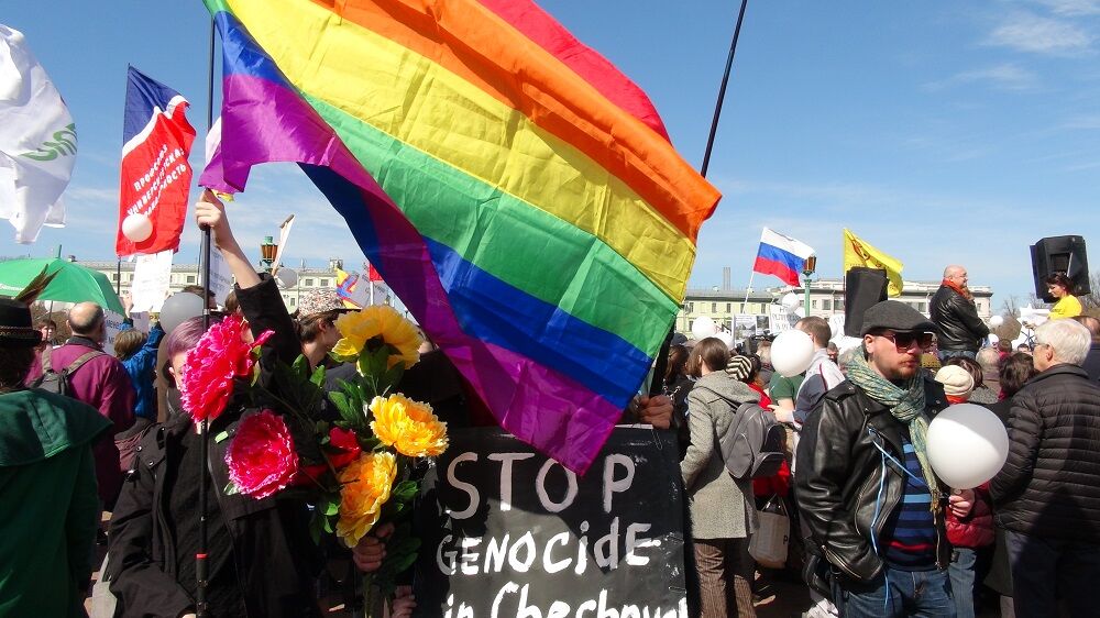
[[[825,320],[800,320],[815,349],[801,375],[770,372],[768,341],[674,349],[685,360],[664,380],[689,429],[701,616],[755,616],[747,548],[756,507],[776,498],[793,520],[787,567],[811,588],[804,616],[972,618],[982,604],[1004,617],[1098,615],[1100,320],[1081,314],[1065,275],[1047,284],[1058,304],[1019,351],[991,344],[960,266],[946,268],[931,319],[879,302],[839,354]],[[790,471],[755,487],[723,474],[714,446],[745,401],[789,428]],[[948,486],[928,461],[930,422],[958,404],[985,406],[1009,437],[1003,467],[978,487]],[[736,505],[722,515],[719,495]]]

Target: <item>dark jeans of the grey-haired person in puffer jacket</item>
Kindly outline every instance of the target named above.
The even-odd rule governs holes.
[[[1100,545],[1004,531],[1018,618],[1054,616],[1057,595],[1069,616],[1096,616]]]

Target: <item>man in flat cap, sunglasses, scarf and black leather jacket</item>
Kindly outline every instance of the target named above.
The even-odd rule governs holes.
[[[923,456],[927,422],[947,406],[921,369],[934,328],[895,300],[868,309],[865,354],[802,430],[795,487],[806,545],[827,561],[842,616],[955,616],[944,508],[965,517],[972,493],[948,506]]]

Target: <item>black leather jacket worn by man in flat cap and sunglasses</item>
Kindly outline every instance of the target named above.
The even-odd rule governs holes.
[[[947,398],[939,383],[928,376],[924,379],[931,417],[947,407]],[[869,583],[882,571],[871,536],[881,539],[887,520],[900,505],[905,473],[886,463],[880,448],[903,462],[902,437],[906,433],[890,408],[850,382],[826,393],[802,429],[794,482],[799,509],[810,529],[806,544],[847,581]],[[936,563],[946,569],[952,550],[943,507],[949,490],[939,485]]]

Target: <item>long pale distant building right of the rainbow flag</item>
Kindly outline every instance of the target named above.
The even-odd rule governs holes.
[[[927,316],[928,302],[937,289],[939,289],[939,282],[904,282],[901,296],[895,297],[894,300],[905,302]],[[970,291],[974,293],[978,316],[988,320],[992,316],[990,307],[993,296],[992,288],[970,286]],[[805,298],[803,287],[792,286],[750,289],[748,294],[745,289],[721,289],[717,286],[710,289],[689,289],[684,302],[680,307],[680,312],[676,314],[676,331],[690,333],[692,322],[701,316],[706,316],[717,324],[733,330],[736,316],[769,316],[772,307],[778,306],[780,299],[789,293],[799,295],[800,299]],[[831,316],[843,316],[844,280],[821,279],[813,282],[810,286],[809,314],[826,319]]]

